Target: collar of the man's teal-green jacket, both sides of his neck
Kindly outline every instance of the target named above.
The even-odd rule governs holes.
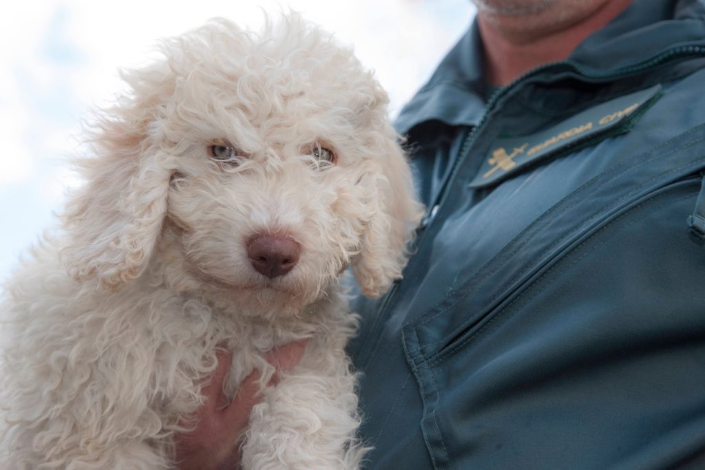
[[[568,61],[590,73],[608,73],[643,63],[675,45],[704,42],[705,0],[637,0],[609,25],[580,44]],[[484,113],[482,39],[477,22],[441,61],[439,68],[402,109],[396,128],[439,120],[477,125]]]

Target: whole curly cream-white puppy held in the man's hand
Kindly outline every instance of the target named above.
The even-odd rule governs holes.
[[[124,74],[61,235],[6,286],[0,468],[173,468],[216,350],[233,350],[232,395],[302,338],[243,467],[356,468],[339,278],[384,292],[421,214],[386,94],[298,16],[257,34],[214,20],[162,50]]]

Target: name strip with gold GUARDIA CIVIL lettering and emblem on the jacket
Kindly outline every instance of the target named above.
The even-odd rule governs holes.
[[[470,187],[492,185],[539,159],[628,132],[659,97],[661,85],[656,85],[594,106],[536,134],[498,139]]]

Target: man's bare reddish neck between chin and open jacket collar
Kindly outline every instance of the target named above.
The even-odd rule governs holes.
[[[492,85],[504,86],[544,63],[561,61],[585,38],[629,6],[631,0],[556,2],[524,15],[501,15],[479,8],[485,68]]]

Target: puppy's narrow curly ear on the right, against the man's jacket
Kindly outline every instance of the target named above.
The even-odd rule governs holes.
[[[424,213],[417,202],[411,171],[389,123],[379,123],[372,148],[376,163],[365,179],[371,180],[372,214],[363,234],[360,253],[353,258],[353,273],[362,293],[378,297],[393,280],[401,278],[407,245]]]

